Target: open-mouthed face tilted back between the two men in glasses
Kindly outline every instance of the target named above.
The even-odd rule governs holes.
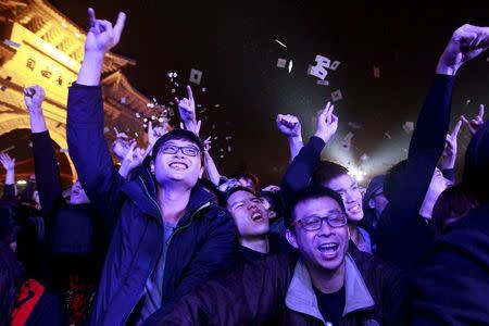
[[[268,234],[268,213],[256,196],[238,190],[227,199],[227,211],[233,216],[239,237],[259,237]]]

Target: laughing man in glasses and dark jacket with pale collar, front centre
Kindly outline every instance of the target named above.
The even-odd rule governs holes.
[[[238,265],[185,296],[158,325],[405,325],[400,272],[354,246],[341,197],[297,192],[286,215],[294,254]]]

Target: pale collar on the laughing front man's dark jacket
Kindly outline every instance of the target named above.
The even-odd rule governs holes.
[[[343,316],[359,310],[372,309],[375,304],[353,259],[347,254],[344,260],[346,303]],[[325,323],[317,305],[311,276],[302,259],[298,260],[296,264],[292,280],[287,290],[286,304],[290,310],[314,316]]]

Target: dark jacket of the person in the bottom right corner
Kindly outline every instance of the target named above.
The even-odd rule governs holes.
[[[414,285],[413,325],[489,323],[489,205],[435,241]]]

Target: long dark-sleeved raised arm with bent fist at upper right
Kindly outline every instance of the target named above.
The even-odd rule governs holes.
[[[436,76],[419,113],[410,143],[406,167],[386,206],[378,225],[379,253],[399,266],[412,267],[418,258],[403,256],[416,241],[410,230],[416,228],[418,215],[435,167],[446,145],[454,75],[466,61],[489,46],[487,28],[464,25],[456,29],[441,54]]]

